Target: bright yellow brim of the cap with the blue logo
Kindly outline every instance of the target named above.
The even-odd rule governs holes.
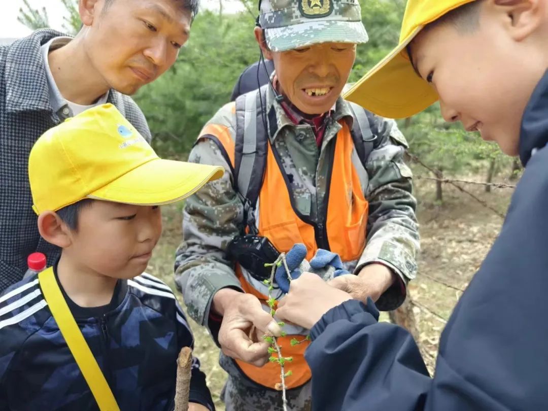
[[[161,206],[189,197],[223,173],[222,167],[158,158],[122,175],[88,197],[139,206]]]

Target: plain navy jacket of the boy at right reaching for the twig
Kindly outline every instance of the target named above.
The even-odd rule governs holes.
[[[547,142],[548,72],[522,120],[526,170],[442,333],[435,376],[406,330],[378,323],[371,301],[347,301],[311,331],[313,409],[548,410]]]

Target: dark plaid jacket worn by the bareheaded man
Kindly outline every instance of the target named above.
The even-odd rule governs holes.
[[[70,116],[66,105],[52,108],[40,49],[57,36],[63,35],[37,30],[0,47],[0,292],[23,277],[28,254],[44,253],[48,265],[59,255],[38,233],[27,172],[38,137]],[[145,117],[131,98],[111,90],[108,101],[150,141]]]

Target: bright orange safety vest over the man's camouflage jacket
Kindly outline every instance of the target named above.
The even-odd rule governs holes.
[[[368,219],[368,202],[363,195],[363,189],[358,173],[352,164],[354,142],[350,129],[345,121],[337,137],[334,151],[334,164],[330,180],[327,208],[327,238],[330,250],[338,253],[342,261],[353,261],[361,257],[366,246],[366,225]],[[218,124],[208,124],[203,128],[199,139],[213,136],[217,144],[224,147],[232,168],[235,167],[235,142],[229,129]],[[289,191],[284,181],[282,171],[273,154],[270,142],[264,180],[259,193],[259,236],[269,238],[280,252],[288,252],[296,243],[304,243],[307,248],[306,258],[310,260],[318,250],[313,226],[302,221],[295,213]],[[268,297],[260,293],[244,277],[237,265],[236,274],[244,292],[255,295],[265,302]],[[304,340],[302,335],[286,335],[277,339],[281,346],[282,356],[293,357],[286,363],[292,375],[286,378],[286,387],[300,387],[311,379],[311,371],[305,361],[304,353],[310,344],[305,341],[291,346],[290,340]],[[276,355],[275,355],[276,356]],[[239,369],[255,383],[269,389],[275,389],[280,382],[281,370],[277,363],[267,363],[263,367],[235,359]]]

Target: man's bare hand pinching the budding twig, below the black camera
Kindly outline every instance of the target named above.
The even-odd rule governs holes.
[[[262,335],[279,336],[282,329],[262,309],[259,299],[251,294],[224,288],[214,295],[213,304],[215,311],[222,315],[219,330],[222,352],[254,366],[264,366],[270,356],[270,344],[262,339]]]

